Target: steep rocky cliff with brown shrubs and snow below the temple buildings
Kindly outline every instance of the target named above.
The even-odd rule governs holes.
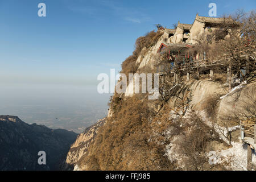
[[[136,60],[128,59],[130,65],[126,60],[122,72],[154,73],[158,62],[156,54],[165,38],[162,34],[149,47],[143,47],[147,45],[147,35],[139,38],[132,57]],[[141,40],[144,42],[139,43]],[[108,122],[98,121],[77,137],[69,150],[65,168],[246,169],[246,150],[239,143],[238,125],[242,119],[255,119],[255,68],[251,70],[251,78],[233,84],[232,90],[226,83],[225,73],[214,73],[212,77],[205,69],[201,73],[200,78],[188,80],[181,75],[179,81],[174,81],[171,74],[169,78],[166,76],[164,89],[171,90],[168,99],[164,91],[158,100],[147,100],[147,94],[130,93],[131,84],[127,85],[125,94],[115,93]],[[209,163],[213,153],[216,160]],[[255,160],[254,154],[254,163]]]

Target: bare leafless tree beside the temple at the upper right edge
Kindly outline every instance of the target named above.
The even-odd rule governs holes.
[[[224,17],[224,21],[226,19]],[[250,75],[248,72],[245,74],[241,69],[247,69],[251,73],[255,71],[255,20],[255,11],[245,14],[240,10],[223,23],[222,34],[225,32],[227,35],[216,44],[215,48],[229,58],[225,62],[232,68],[234,75],[242,77]]]

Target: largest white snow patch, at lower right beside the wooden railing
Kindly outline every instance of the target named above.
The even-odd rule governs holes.
[[[210,151],[209,163],[222,164],[229,170],[247,170],[247,146],[242,143],[232,142],[232,148],[221,151]],[[253,163],[256,164],[256,153],[253,153]]]

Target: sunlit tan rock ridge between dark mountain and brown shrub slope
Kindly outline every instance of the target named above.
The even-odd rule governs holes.
[[[72,144],[68,151],[67,159],[62,169],[73,170],[79,159],[86,155],[90,143],[92,143],[97,135],[98,129],[104,125],[106,118],[100,119],[94,125],[87,127],[85,131],[77,136],[76,142]]]

